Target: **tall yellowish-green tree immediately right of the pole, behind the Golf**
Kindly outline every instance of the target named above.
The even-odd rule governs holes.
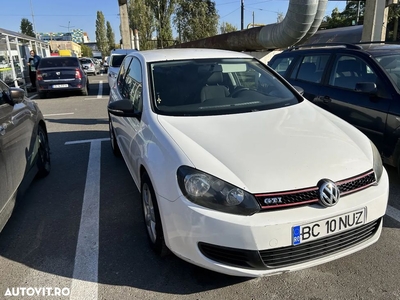
[[[129,27],[139,31],[140,50],[154,49],[152,41],[156,31],[154,12],[146,4],[146,0],[129,0],[128,2]]]

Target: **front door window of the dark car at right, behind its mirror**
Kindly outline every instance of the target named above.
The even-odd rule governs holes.
[[[375,72],[365,61],[349,55],[338,56],[331,70],[329,84],[354,90],[358,82],[378,83]]]

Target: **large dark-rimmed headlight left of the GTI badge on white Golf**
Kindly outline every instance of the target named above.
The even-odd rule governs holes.
[[[182,166],[177,176],[183,195],[193,203],[237,215],[260,211],[253,195],[210,174]]]

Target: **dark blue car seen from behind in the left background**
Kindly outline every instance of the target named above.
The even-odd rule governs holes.
[[[74,56],[42,58],[36,82],[40,98],[46,98],[49,92],[79,91],[83,96],[88,95],[88,77],[79,58]]]

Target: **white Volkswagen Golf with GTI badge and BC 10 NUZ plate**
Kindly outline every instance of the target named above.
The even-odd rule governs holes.
[[[375,146],[249,55],[132,52],[108,112],[158,254],[257,277],[381,234],[389,182]]]

